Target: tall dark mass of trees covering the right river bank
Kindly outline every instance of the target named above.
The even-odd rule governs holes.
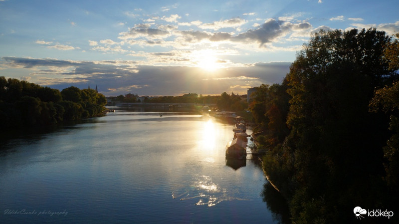
[[[282,83],[252,95],[261,147],[270,149],[264,170],[293,223],[350,222],[356,206],[397,209],[398,38],[376,29],[321,30]]]

